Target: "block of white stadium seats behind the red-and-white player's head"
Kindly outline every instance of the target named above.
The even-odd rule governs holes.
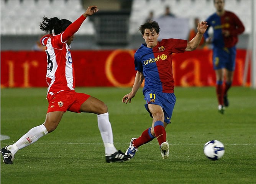
[[[1,0],[1,35],[42,34],[39,23],[44,16],[74,21],[84,11],[80,0]],[[86,27],[80,34],[94,34],[89,19]]]

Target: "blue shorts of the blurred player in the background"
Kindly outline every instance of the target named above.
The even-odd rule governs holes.
[[[226,68],[229,71],[235,70],[236,46],[231,48],[213,48],[213,68],[214,70]]]

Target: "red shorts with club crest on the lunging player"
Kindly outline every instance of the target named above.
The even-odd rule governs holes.
[[[56,94],[48,94],[48,112],[71,111],[80,113],[81,105],[90,97],[89,94],[73,91],[61,91]]]

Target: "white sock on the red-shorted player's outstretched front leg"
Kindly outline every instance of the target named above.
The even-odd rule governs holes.
[[[104,114],[99,114],[98,116],[98,129],[100,130],[100,135],[102,137],[105,155],[112,155],[117,151],[114,146],[112,127],[108,119],[108,112]]]

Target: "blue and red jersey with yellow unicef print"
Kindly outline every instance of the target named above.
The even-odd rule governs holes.
[[[143,94],[148,89],[163,93],[174,92],[172,53],[184,52],[186,47],[187,40],[182,39],[162,39],[153,49],[141,44],[134,59],[135,70],[144,75]]]

